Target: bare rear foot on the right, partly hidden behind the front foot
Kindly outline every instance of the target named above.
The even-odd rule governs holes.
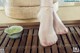
[[[55,11],[53,11],[53,17],[54,17],[54,29],[56,34],[66,34],[68,33],[68,29],[66,26],[62,23],[59,16]]]

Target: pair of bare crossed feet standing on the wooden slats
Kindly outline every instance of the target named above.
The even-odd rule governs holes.
[[[58,40],[56,34],[66,34],[68,29],[62,23],[52,8],[41,8],[38,14],[40,20],[39,40],[42,46],[51,46]]]

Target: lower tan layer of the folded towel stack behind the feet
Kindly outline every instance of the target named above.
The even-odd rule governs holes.
[[[8,17],[16,19],[31,19],[37,18],[39,11],[39,6],[37,7],[7,7],[5,8],[5,13]]]

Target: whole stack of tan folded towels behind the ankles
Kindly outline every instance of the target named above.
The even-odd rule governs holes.
[[[6,0],[5,13],[16,19],[37,18],[40,10],[40,0]],[[58,2],[54,0],[53,10],[58,10]]]

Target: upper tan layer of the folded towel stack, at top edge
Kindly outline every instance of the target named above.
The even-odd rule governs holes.
[[[55,3],[57,0],[54,0]],[[40,0],[6,0],[6,5],[10,6],[40,6]]]

